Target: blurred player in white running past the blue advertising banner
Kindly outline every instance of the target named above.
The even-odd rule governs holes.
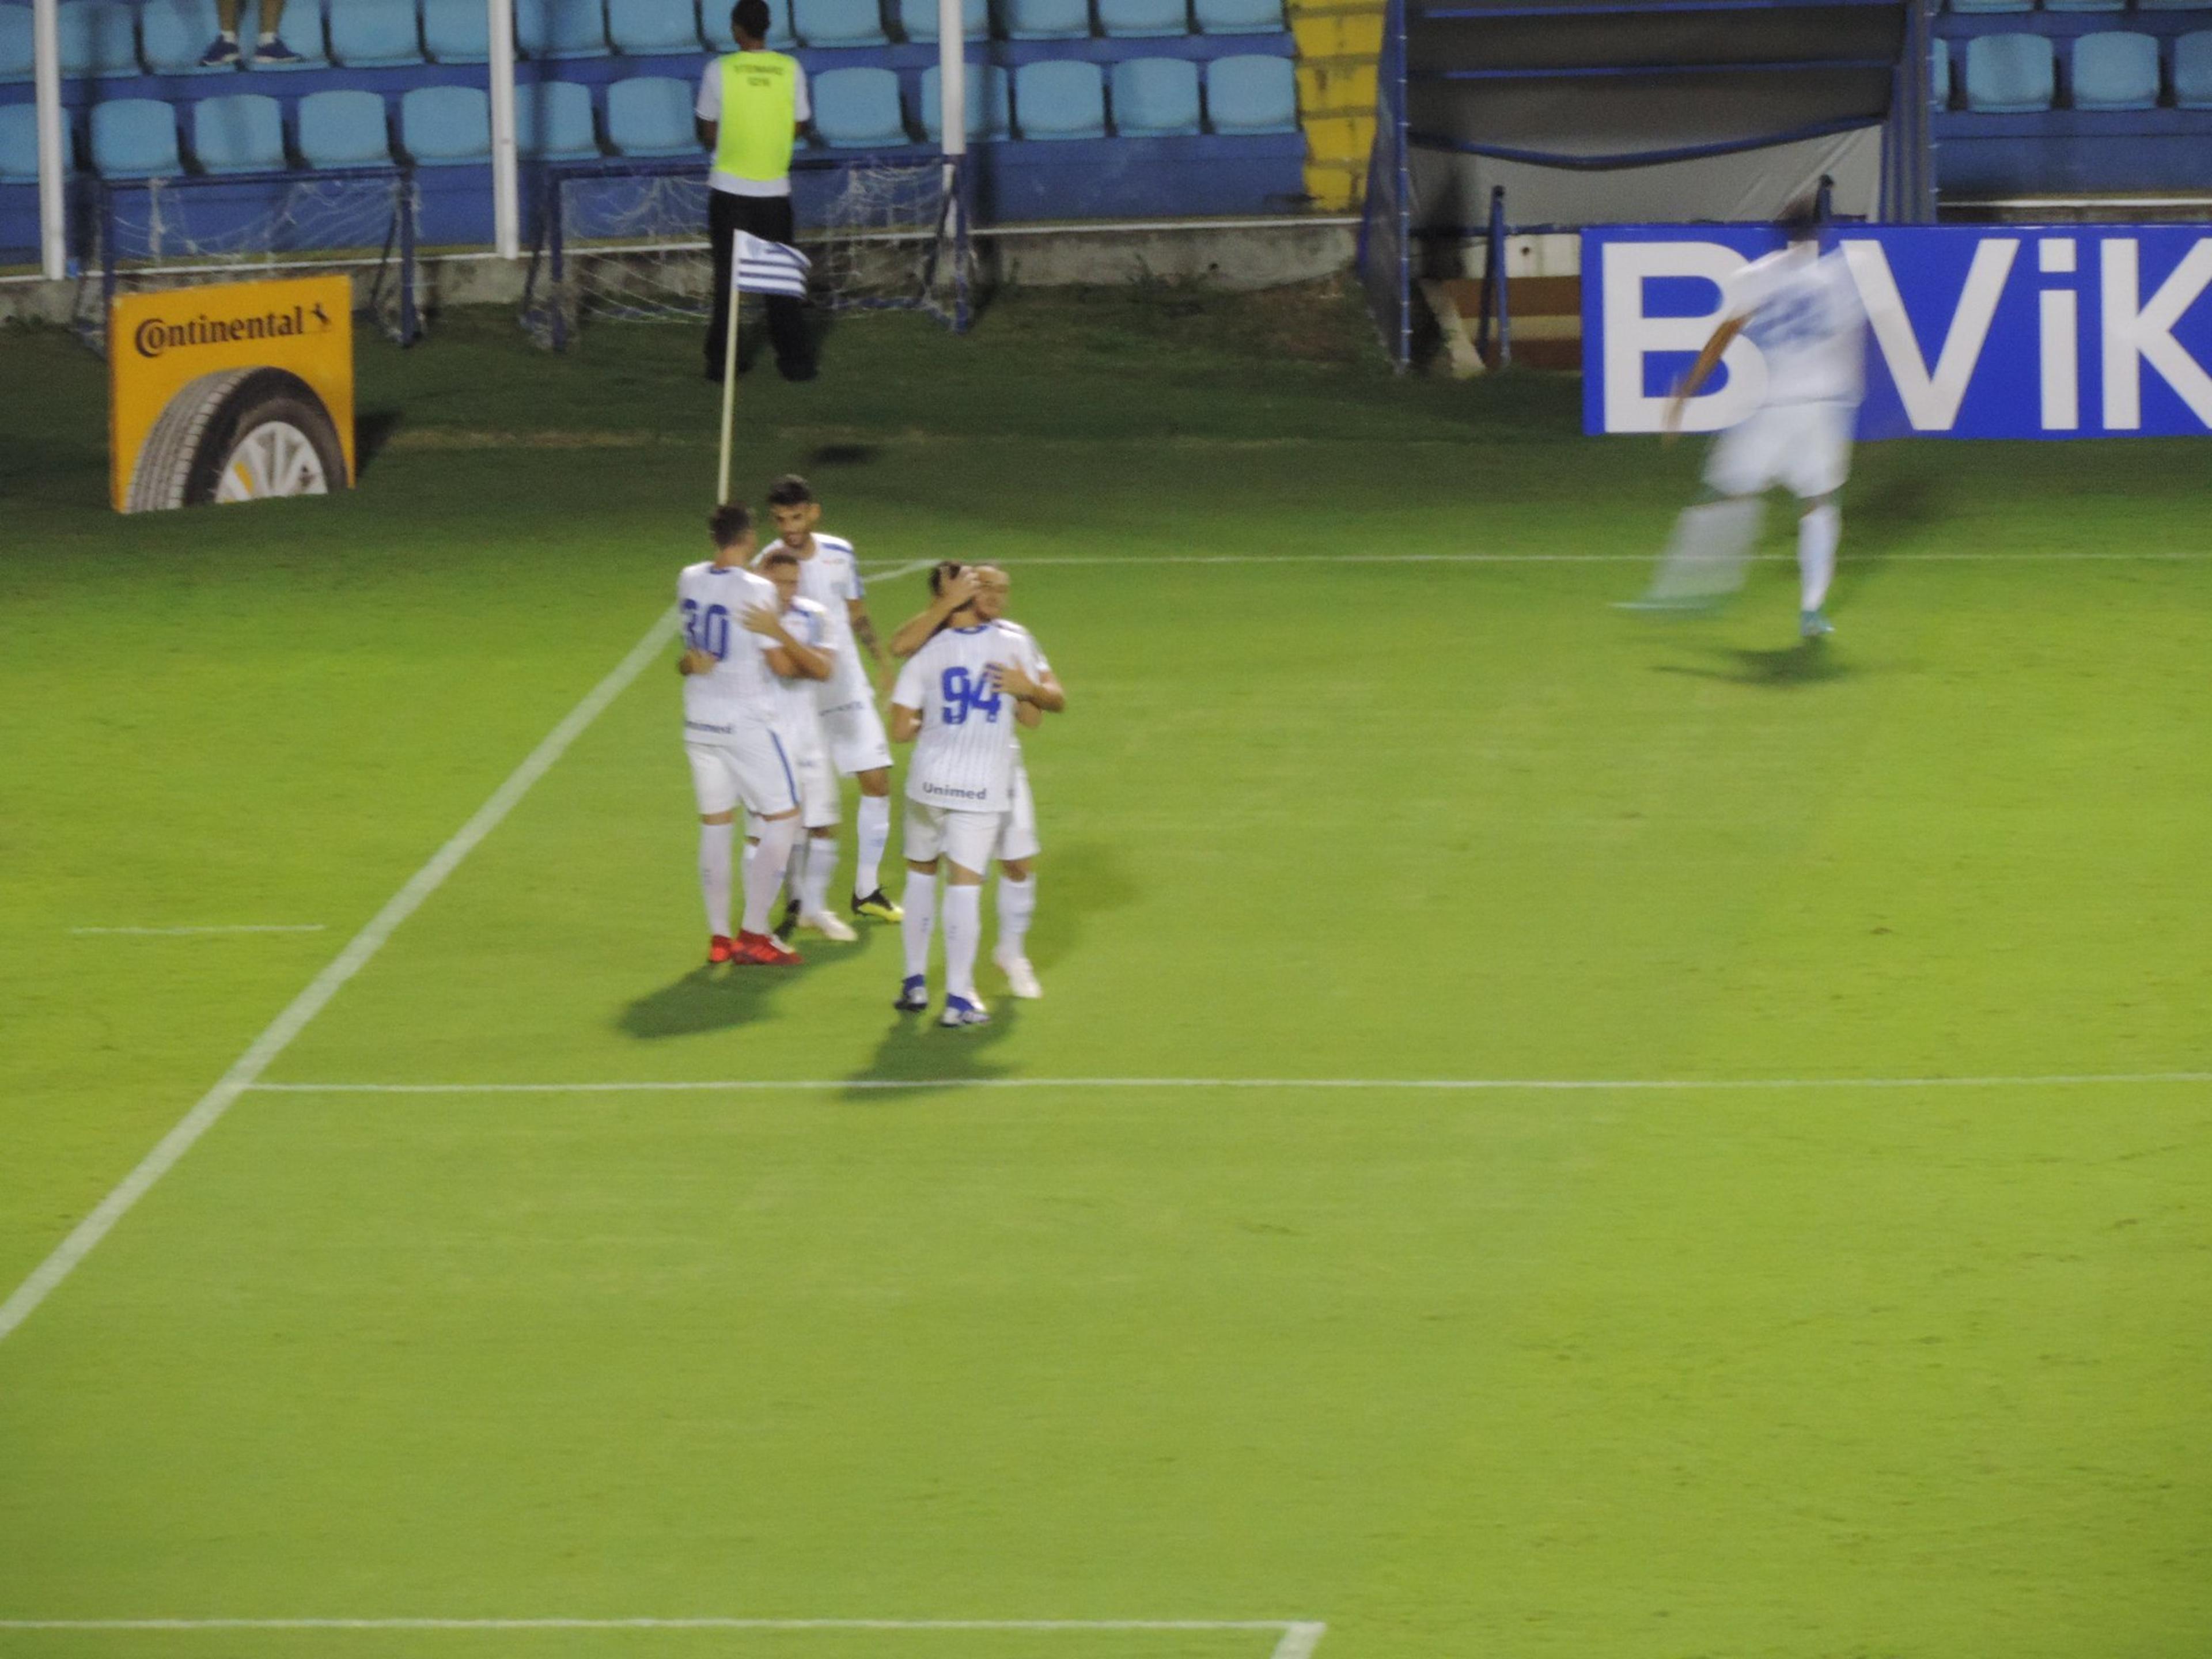
[[[1765,398],[1714,440],[1705,460],[1710,498],[1677,522],[1670,564],[1677,571],[1705,564],[1741,580],[1743,560],[1759,540],[1763,493],[1787,489],[1798,498],[1798,633],[1818,639],[1834,633],[1825,606],[1843,538],[1836,493],[1851,473],[1867,314],[1843,254],[1820,252],[1820,215],[1812,197],[1792,204],[1776,226],[1790,246],[1728,279],[1721,325],[1668,405],[1672,436],[1681,429],[1683,405],[1739,334],[1765,358]],[[1652,602],[1668,604],[1657,588]]]

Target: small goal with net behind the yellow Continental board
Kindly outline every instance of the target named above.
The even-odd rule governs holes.
[[[75,330],[106,352],[117,294],[343,270],[356,316],[407,345],[420,332],[416,204],[414,179],[387,168],[104,184]]]

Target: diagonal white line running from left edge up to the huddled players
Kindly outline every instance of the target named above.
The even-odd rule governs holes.
[[[369,958],[385,947],[385,940],[392,938],[398,925],[414,916],[425,898],[438,891],[460,860],[467,858],[484,836],[500,827],[500,821],[513,812],[515,803],[529,794],[531,785],[538,783],[538,779],[542,779],[562,754],[566,754],[568,745],[575,743],[584,728],[599,719],[599,712],[613,703],[624,688],[628,688],[628,684],[644,672],[646,664],[661,653],[672,630],[672,611],[655,619],[655,624],[646,628],[644,639],[630,648],[630,655],[615,664],[606,679],[584,692],[584,701],[571,708],[562,723],[546,732],[544,741],[540,741],[522,765],[507,776],[507,783],[491,792],[491,799],[476,810],[476,816],[460,825],[460,830],[453,832],[453,838],[438,847],[438,852],[431,854],[431,860],[409,876],[405,887],[385,900],[385,907],[369,918],[367,927],[354,933],[347,947],[338,951],[336,960],[316,973],[314,980],[307,982],[305,991],[292,998],[290,1006],[285,1006],[285,1011],[270,1022],[268,1031],[254,1037],[252,1046],[232,1062],[230,1071],[221,1075],[215,1088],[201,1095],[199,1104],[192,1106],[192,1110],[188,1110],[144,1159],[139,1159],[139,1166],[131,1170],[131,1175],[126,1175],[115,1190],[108,1192],[108,1197],[104,1197],[66,1239],[62,1239],[60,1245],[55,1245],[53,1254],[38,1263],[29,1279],[15,1285],[15,1292],[0,1303],[0,1343],[4,1343],[9,1334],[22,1325],[38,1310],[38,1305],[46,1301],[46,1296],[53,1294],[55,1285],[69,1279],[75,1265],[84,1261],[100,1245],[100,1241],[108,1237],[115,1223],[131,1212],[131,1206],[146,1197],[153,1183],[168,1175],[177,1159],[192,1150],[192,1141],[221,1121],[223,1113],[230,1110],[230,1104],[252,1088],[261,1073],[268,1071],[270,1062],[274,1062],[276,1055],[281,1055],[307,1026],[307,1022],[314,1020],[314,1015],[319,1015],[334,995],[338,995],[338,989],[347,980],[367,967]]]

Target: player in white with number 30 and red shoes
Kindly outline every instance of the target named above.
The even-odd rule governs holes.
[[[799,838],[799,776],[779,728],[779,675],[814,677],[830,664],[792,637],[776,588],[752,575],[752,513],[723,502],[708,515],[714,557],[677,577],[684,624],[684,754],[699,796],[699,889],[706,898],[708,962],[792,967],[799,956],[768,931],[783,865]],[[745,865],[745,911],[730,938],[730,874],[737,807],[761,827]]]

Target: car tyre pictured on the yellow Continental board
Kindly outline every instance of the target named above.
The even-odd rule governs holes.
[[[285,369],[219,369],[177,389],[146,434],[126,511],[327,495],[345,447],[330,409]]]

